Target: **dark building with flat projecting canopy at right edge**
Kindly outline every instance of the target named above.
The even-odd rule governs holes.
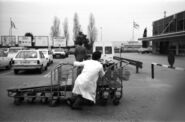
[[[152,41],[155,54],[185,55],[185,11],[153,22],[153,36],[139,38]]]

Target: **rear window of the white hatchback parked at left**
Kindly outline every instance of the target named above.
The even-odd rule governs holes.
[[[21,51],[17,54],[16,58],[37,58],[36,51]]]

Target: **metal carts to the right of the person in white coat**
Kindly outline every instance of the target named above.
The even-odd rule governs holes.
[[[96,101],[98,103],[106,105],[108,100],[112,100],[114,105],[120,103],[123,96],[123,81],[128,81],[130,77],[130,72],[126,67],[128,64],[128,61],[121,60],[104,67],[106,73],[99,78],[97,85]]]

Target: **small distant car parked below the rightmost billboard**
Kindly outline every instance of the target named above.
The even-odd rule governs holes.
[[[53,57],[54,58],[66,58],[67,54],[62,48],[57,48],[53,50]]]

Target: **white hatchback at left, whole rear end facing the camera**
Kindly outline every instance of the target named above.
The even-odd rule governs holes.
[[[36,69],[39,73],[47,70],[47,60],[39,50],[21,50],[13,58],[14,73],[17,74],[19,70]]]

